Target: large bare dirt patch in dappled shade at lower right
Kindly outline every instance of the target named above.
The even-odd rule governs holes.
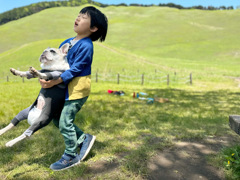
[[[207,156],[223,147],[239,144],[238,136],[208,137],[201,141],[176,142],[158,152],[148,163],[151,180],[224,180],[222,170],[211,166]]]

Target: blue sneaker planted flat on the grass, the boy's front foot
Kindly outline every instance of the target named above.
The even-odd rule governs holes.
[[[50,169],[54,171],[61,171],[76,166],[78,164],[80,164],[79,156],[73,158],[72,156],[64,153],[59,161],[51,164]]]

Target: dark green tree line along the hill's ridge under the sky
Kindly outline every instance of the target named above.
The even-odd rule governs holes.
[[[52,8],[52,7],[73,7],[73,6],[81,6],[83,4],[92,4],[96,5],[99,7],[107,7],[110,5],[107,4],[102,4],[99,2],[95,2],[92,0],[59,0],[59,1],[44,1],[44,2],[39,2],[39,3],[33,3],[28,6],[24,7],[19,7],[19,8],[14,8],[10,11],[6,11],[4,13],[0,14],[0,25],[5,24],[7,22],[17,20],[20,18],[23,18],[25,16],[29,16],[31,14],[37,13],[39,11],[42,11],[47,8]],[[111,5],[111,6],[128,6],[125,3],[120,3],[117,5]],[[144,5],[144,4],[130,4],[129,6],[144,6],[144,7],[149,7],[149,6],[156,6],[154,4],[151,5]],[[220,6],[220,7],[213,7],[213,6],[208,6],[208,7],[203,7],[203,6],[193,6],[193,7],[183,7],[181,5],[177,5],[174,3],[168,3],[168,4],[158,4],[158,6],[166,6],[166,7],[173,7],[173,8],[178,8],[178,9],[201,9],[201,10],[229,10],[229,9],[234,9],[233,6],[225,7],[225,6]]]

